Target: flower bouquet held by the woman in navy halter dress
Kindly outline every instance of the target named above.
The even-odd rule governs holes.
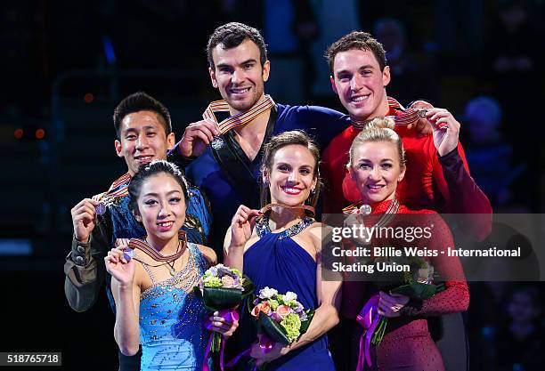
[[[289,345],[305,334],[313,319],[314,311],[305,310],[297,302],[297,294],[264,287],[253,302],[250,313],[256,319],[260,332],[277,343]]]

